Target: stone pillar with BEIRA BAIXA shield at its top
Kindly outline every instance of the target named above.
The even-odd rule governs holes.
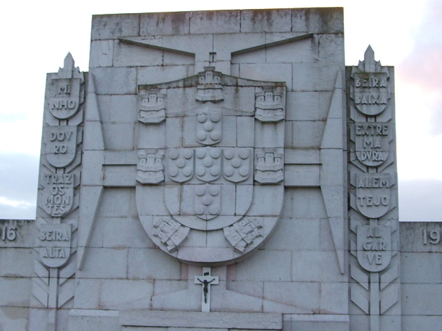
[[[401,330],[394,68],[347,67],[351,330]],[[364,325],[364,326],[362,326]]]

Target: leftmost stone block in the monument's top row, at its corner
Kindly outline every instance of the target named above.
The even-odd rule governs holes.
[[[94,15],[91,39],[137,36],[139,30],[140,14]]]

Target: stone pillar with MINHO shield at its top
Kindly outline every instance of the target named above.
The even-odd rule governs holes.
[[[84,82],[70,53],[46,81],[29,330],[66,330],[73,306]]]

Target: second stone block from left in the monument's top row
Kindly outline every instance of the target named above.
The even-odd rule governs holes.
[[[140,14],[140,36],[189,34],[192,12],[149,12]]]

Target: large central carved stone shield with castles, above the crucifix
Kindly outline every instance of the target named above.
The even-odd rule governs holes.
[[[153,86],[164,92],[167,105],[178,107],[164,109],[165,121],[140,121],[141,132],[164,134],[153,139],[158,143],[152,148],[165,156],[164,165],[157,164],[165,176],[157,183],[137,179],[136,197],[144,229],[164,252],[186,263],[220,265],[256,250],[278,221],[285,87],[205,70],[185,84],[183,79]],[[183,86],[180,92],[177,86]],[[278,119],[273,110],[257,117],[255,104],[238,102],[258,98],[263,88],[278,96]],[[139,90],[151,93],[149,86]],[[265,168],[256,168],[256,152],[267,152]],[[257,171],[264,171],[258,179]]]

